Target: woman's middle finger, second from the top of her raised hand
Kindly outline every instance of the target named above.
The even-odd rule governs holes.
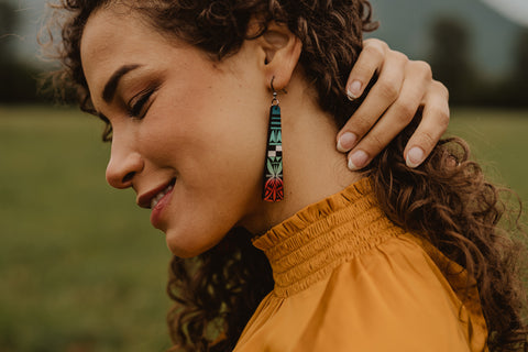
[[[378,118],[398,99],[405,79],[408,58],[400,53],[389,52],[385,62],[376,84],[372,87],[358,111],[338,134],[338,150],[340,152],[345,153],[354,147],[372,129]],[[417,103],[421,99],[422,97],[418,99]]]

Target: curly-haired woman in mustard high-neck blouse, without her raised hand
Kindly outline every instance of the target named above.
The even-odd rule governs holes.
[[[66,77],[111,125],[107,179],[176,255],[175,350],[526,348],[518,246],[465,145],[410,168],[417,117],[361,172],[336,151],[369,2],[66,8]]]

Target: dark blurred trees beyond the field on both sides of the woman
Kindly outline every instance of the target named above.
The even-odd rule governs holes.
[[[0,103],[41,102],[40,70],[14,55],[16,12],[0,1]],[[430,29],[432,48],[427,58],[435,78],[450,90],[452,105],[528,108],[528,29],[524,29],[512,53],[510,73],[502,78],[480,75],[471,57],[472,37],[464,24],[452,18],[438,19]]]

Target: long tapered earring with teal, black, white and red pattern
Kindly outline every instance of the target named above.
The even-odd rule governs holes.
[[[272,107],[270,108],[270,124],[267,128],[266,161],[264,164],[264,187],[262,198],[266,201],[280,201],[284,199],[283,182],[283,136],[280,128],[280,107],[277,91],[273,87]]]

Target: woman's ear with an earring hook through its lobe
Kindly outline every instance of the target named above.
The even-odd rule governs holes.
[[[299,62],[302,51],[300,40],[295,36],[285,24],[270,22],[267,31],[257,41],[265,52],[263,63],[267,86],[273,80],[276,90],[286,88]]]

